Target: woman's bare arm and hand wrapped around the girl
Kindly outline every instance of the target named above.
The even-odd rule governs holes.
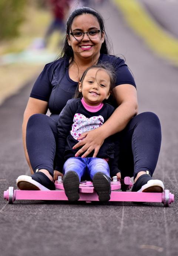
[[[96,157],[98,151],[103,144],[105,138],[122,131],[131,118],[137,115],[137,91],[131,84],[121,84],[115,87],[115,98],[118,103],[118,108],[115,109],[111,117],[99,128],[83,133],[78,142],[73,148],[83,146],[77,151],[75,156],[85,152],[82,157],[87,157],[94,150],[93,157]]]

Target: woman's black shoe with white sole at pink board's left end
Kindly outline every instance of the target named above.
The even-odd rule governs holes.
[[[31,176],[21,175],[17,178],[20,190],[55,190],[54,183],[43,173],[36,172]]]

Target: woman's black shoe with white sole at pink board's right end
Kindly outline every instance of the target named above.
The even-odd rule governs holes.
[[[164,184],[161,180],[154,180],[148,174],[141,175],[132,187],[132,192],[162,193]]]

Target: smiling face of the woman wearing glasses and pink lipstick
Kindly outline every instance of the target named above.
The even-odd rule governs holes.
[[[92,14],[82,14],[74,18],[71,32],[88,32],[100,30],[100,25],[95,16]],[[74,58],[99,58],[101,44],[104,42],[104,32],[99,32],[97,38],[89,38],[87,33],[83,39],[76,40],[73,35],[67,35],[68,44],[71,45]]]

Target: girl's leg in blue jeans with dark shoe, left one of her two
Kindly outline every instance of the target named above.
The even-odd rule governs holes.
[[[87,165],[81,157],[67,159],[63,167],[63,185],[69,201],[77,201],[79,196],[79,185]]]

